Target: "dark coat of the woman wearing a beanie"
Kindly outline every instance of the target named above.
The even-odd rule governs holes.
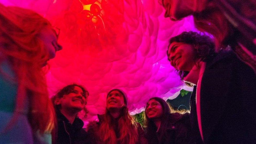
[[[104,114],[103,115],[98,114],[98,119],[99,119],[99,122],[92,121],[92,122],[89,122],[89,124],[87,125],[88,137],[90,137],[90,139],[92,139],[93,144],[104,143],[102,140],[100,140],[99,133],[98,133],[99,127],[102,124],[102,121],[104,121]],[[138,142],[137,142],[137,144],[146,144],[147,140],[145,138],[145,133],[144,133],[142,127],[140,126],[140,124],[137,123],[137,125],[138,125],[138,128],[137,128]],[[118,131],[115,131],[115,133],[118,134]]]

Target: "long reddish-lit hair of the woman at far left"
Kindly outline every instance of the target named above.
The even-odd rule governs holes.
[[[28,100],[28,118],[33,131],[50,133],[54,128],[55,112],[42,71],[49,54],[38,38],[47,26],[51,26],[50,22],[31,10],[0,4],[0,51],[10,62],[18,83],[14,115],[7,127],[26,112],[24,103]]]

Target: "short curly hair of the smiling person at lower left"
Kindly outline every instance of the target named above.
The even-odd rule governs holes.
[[[52,101],[52,103],[53,103],[53,105],[54,105],[54,108],[55,108],[56,110],[60,110],[60,109],[61,109],[61,105],[56,105],[56,104],[54,103],[55,99],[56,99],[56,98],[62,98],[64,95],[71,93],[72,90],[74,89],[74,87],[79,87],[79,88],[81,88],[82,91],[83,91],[83,93],[84,93],[85,99],[87,99],[87,97],[89,96],[89,92],[88,92],[83,86],[78,85],[78,84],[76,84],[76,83],[67,85],[67,86],[63,87],[56,95],[54,95],[54,96],[51,97],[51,101]],[[83,110],[84,110],[84,112],[85,112],[86,114],[88,113],[88,110],[87,110],[86,108],[84,108]],[[85,115],[85,116],[86,116],[86,115]]]

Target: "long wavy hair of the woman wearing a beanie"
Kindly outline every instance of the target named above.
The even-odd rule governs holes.
[[[126,99],[124,95],[123,97],[124,99]],[[102,141],[108,144],[134,144],[138,142],[138,125],[135,122],[134,118],[129,114],[127,106],[122,107],[120,118],[117,122],[118,132],[120,134],[119,138],[116,137],[114,126],[115,123],[113,122],[113,118],[110,115],[110,111],[106,109],[104,120],[99,127],[99,135]]]

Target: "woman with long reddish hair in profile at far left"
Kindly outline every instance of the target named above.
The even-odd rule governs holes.
[[[51,143],[55,112],[42,66],[58,50],[48,20],[0,4],[1,143]]]

